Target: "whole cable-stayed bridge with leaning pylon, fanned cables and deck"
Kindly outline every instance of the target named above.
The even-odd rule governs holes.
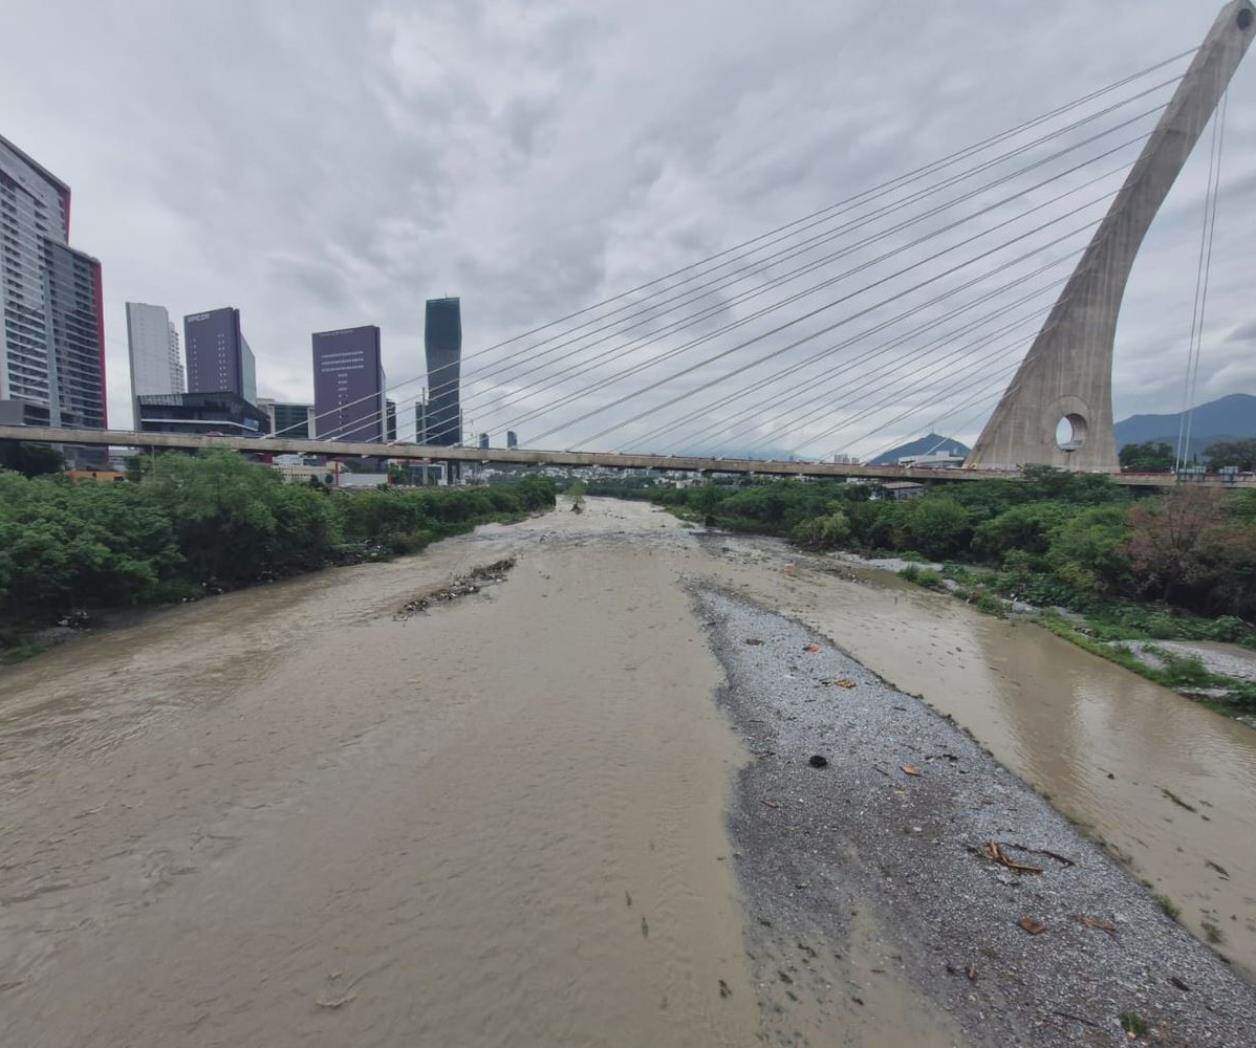
[[[428,397],[458,391],[462,417],[428,426],[423,445],[355,440],[382,428],[376,395],[379,410],[345,426],[327,416],[358,402],[317,416],[314,441],[30,428],[20,439],[884,478],[899,474],[833,460],[922,431],[965,434],[988,416],[967,479],[1026,464],[1112,472],[1125,283],[1211,122],[1199,250],[1182,266],[1194,269],[1189,324],[1179,318],[1189,337],[1164,363],[1184,363],[1183,406],[1194,401],[1225,98],[1253,35],[1251,0],[1232,0],[1198,48],[470,352],[455,372],[391,385],[399,402],[425,385]],[[520,431],[525,446],[463,447],[463,417],[490,435]],[[737,457],[720,457],[726,449]]]

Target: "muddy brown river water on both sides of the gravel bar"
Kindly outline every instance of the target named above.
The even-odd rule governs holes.
[[[745,754],[686,576],[952,712],[1253,965],[1256,733],[897,581],[588,506],[0,674],[0,1043],[759,1043],[723,821]],[[953,1042],[892,979],[868,1004],[799,1027]]]

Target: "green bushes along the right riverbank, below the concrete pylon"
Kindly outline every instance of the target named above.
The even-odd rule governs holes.
[[[896,557],[919,586],[992,614],[1030,614],[1061,637],[1230,714],[1256,714],[1256,681],[1157,641],[1256,652],[1256,493],[1134,495],[1110,479],[1030,467],[1025,481],[936,485],[894,501],[868,484],[769,481],[656,488],[710,527],[810,550]]]

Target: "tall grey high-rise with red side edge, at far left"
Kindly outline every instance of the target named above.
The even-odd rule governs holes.
[[[100,263],[69,236],[69,186],[0,138],[0,413],[104,428]]]

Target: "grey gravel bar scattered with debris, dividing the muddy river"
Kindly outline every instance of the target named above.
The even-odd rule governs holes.
[[[730,804],[751,956],[793,930],[840,956],[859,900],[972,1044],[1256,1043],[1256,988],[953,721],[789,618],[693,594],[752,754]]]

